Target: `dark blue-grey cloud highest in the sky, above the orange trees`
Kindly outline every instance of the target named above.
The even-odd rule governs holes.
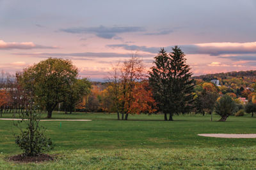
[[[140,32],[145,31],[142,27],[72,27],[67,29],[60,29],[60,31],[68,32],[72,34],[95,34],[100,38],[111,39],[117,34],[125,32]]]

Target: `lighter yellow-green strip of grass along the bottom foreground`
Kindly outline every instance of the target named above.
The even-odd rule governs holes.
[[[6,162],[0,169],[255,169],[256,147],[80,149],[51,152],[44,163]]]

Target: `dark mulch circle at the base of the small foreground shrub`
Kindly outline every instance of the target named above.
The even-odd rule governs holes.
[[[15,162],[24,162],[24,163],[45,162],[45,161],[53,160],[53,157],[51,157],[51,155],[47,155],[47,154],[40,154],[37,157],[28,157],[28,156],[24,156],[24,155],[20,154],[20,155],[15,155],[15,156],[10,157],[9,160],[12,160]]]

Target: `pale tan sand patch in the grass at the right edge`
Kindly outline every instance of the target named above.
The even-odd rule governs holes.
[[[198,136],[214,138],[256,138],[256,134],[198,134]]]

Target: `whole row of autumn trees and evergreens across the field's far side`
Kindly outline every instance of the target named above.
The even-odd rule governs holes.
[[[47,118],[51,118],[52,111],[59,106],[70,113],[75,108],[88,111],[100,108],[116,112],[118,120],[127,120],[129,114],[134,113],[160,112],[164,113],[164,120],[189,112],[212,115],[215,110],[220,115],[223,113],[218,111],[218,102],[225,99],[220,99],[220,87],[193,80],[185,55],[178,46],[170,53],[161,49],[154,59],[148,73],[137,56],[116,64],[102,89],[87,78],[78,78],[77,67],[70,60],[43,60],[17,73],[10,79],[12,81],[2,83],[8,88],[0,92],[1,111],[16,108],[15,112],[22,112],[29,106],[28,99],[33,97],[37,109],[47,111]],[[231,95],[227,93],[227,96]]]

